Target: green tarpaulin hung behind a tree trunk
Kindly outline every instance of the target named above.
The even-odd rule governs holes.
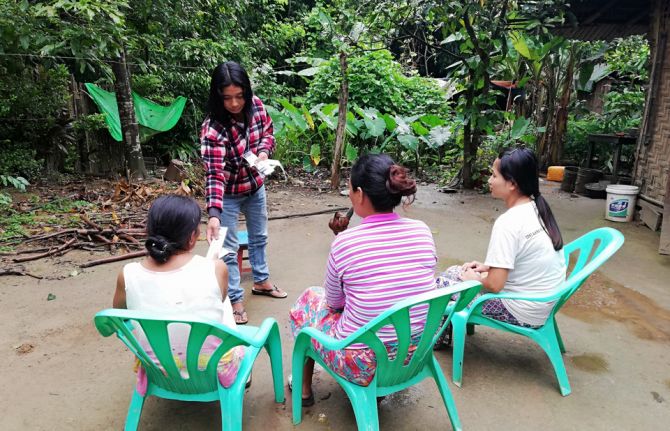
[[[116,95],[105,91],[95,84],[86,83],[86,89],[101,112],[105,114],[105,122],[112,138],[121,142],[121,120],[119,107],[116,104]],[[135,116],[140,125],[140,141],[145,142],[151,136],[160,132],[167,132],[177,124],[184,112],[186,98],[177,97],[169,106],[161,106],[133,92]]]

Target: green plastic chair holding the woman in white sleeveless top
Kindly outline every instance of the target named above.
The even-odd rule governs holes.
[[[279,327],[277,321],[267,318],[260,328],[239,326],[228,328],[222,324],[199,320],[166,319],[164,315],[145,313],[136,310],[107,309],[95,315],[95,327],[104,337],[116,334],[131,352],[137,356],[146,370],[147,392],[142,396],[137,388],[126,417],[126,430],[136,430],[144,400],[149,395],[181,401],[210,402],[219,400],[221,403],[221,423],[224,430],[242,429],[242,406],[245,384],[251,374],[251,368],[260,352],[265,348],[270,356],[272,378],[274,383],[275,401],[284,402],[282,384],[282,353]],[[184,323],[190,326],[186,347],[186,369],[188,377],[182,377],[173,358],[168,325]],[[134,325],[140,325],[154,355],[161,364],[159,368],[147,355],[132,332]],[[200,349],[208,336],[222,340],[212,352],[206,368],[198,366]],[[219,359],[235,346],[246,346],[244,359],[240,363],[237,379],[229,388],[219,382],[217,364]]]

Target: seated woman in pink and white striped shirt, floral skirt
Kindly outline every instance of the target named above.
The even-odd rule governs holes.
[[[294,336],[304,327],[314,327],[343,339],[398,301],[435,289],[437,258],[430,229],[394,212],[403,197],[409,205],[414,193],[416,182],[389,156],[358,159],[351,170],[349,199],[363,220],[333,241],[324,287],[310,287],[291,308]],[[427,308],[421,307],[410,313],[417,342],[426,313]],[[390,351],[397,348],[392,328],[382,328],[377,335]],[[345,351],[328,351],[316,342],[315,347],[329,368],[342,377],[364,386],[372,381],[375,354],[364,345]],[[314,404],[313,370],[310,359],[303,373],[303,406]]]

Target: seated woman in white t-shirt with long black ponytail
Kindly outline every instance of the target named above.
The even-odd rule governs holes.
[[[507,211],[496,220],[484,263],[452,266],[437,278],[438,287],[478,280],[483,293],[544,295],[565,280],[563,238],[539,190],[537,159],[527,148],[504,151],[493,162],[491,195]],[[526,327],[544,325],[554,303],[491,299],[482,314]]]

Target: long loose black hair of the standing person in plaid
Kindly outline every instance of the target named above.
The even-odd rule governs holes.
[[[247,71],[234,61],[226,61],[214,68],[212,80],[209,83],[209,99],[207,100],[207,115],[226,127],[232,124],[230,112],[223,106],[223,89],[229,85],[242,88],[244,94],[244,126],[245,129],[251,120],[254,93],[251,90],[251,81]]]

